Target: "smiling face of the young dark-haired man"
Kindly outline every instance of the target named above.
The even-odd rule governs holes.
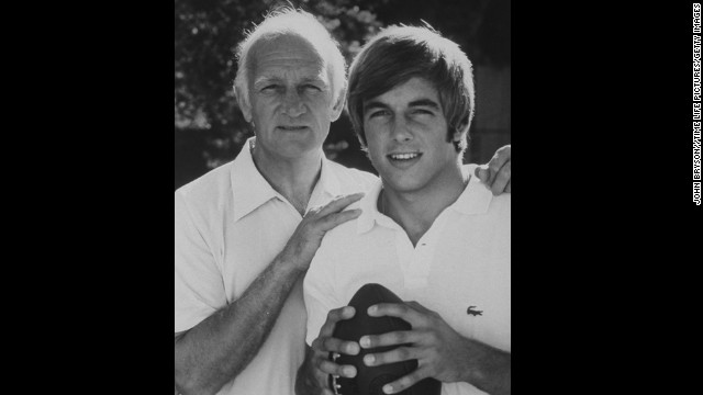
[[[369,157],[383,185],[398,192],[442,188],[449,173],[445,170],[459,159],[447,142],[447,120],[434,84],[414,77],[362,106]]]

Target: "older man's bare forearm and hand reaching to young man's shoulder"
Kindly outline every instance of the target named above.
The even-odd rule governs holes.
[[[283,250],[242,297],[177,334],[176,387],[183,394],[214,394],[252,361],[270,332],[290,290],[308,269],[324,234],[356,218],[342,211],[361,194],[343,196],[311,211]]]

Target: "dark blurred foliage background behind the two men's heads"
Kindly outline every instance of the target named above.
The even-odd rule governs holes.
[[[316,15],[347,63],[382,26],[426,21],[475,64],[477,117],[466,159],[484,162],[510,143],[510,0],[175,0],[176,188],[232,160],[252,135],[232,89],[236,45],[271,7],[289,4]],[[494,137],[481,145],[482,129]],[[332,124],[324,148],[333,160],[373,171],[346,115]]]

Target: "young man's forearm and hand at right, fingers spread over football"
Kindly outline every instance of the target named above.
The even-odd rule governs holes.
[[[364,363],[368,366],[417,360],[417,369],[383,386],[384,393],[395,394],[425,377],[434,377],[443,383],[467,382],[491,395],[510,394],[510,352],[462,337],[437,313],[416,302],[381,303],[369,307],[368,314],[398,317],[412,325],[409,331],[364,336],[359,339],[360,346],[367,349],[412,343],[365,357]]]

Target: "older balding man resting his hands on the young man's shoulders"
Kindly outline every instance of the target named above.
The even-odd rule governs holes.
[[[302,278],[324,234],[360,214],[344,208],[376,177],[324,157],[345,64],[312,15],[271,13],[238,60],[237,102],[255,137],[175,194],[176,390],[292,394],[305,352]]]

